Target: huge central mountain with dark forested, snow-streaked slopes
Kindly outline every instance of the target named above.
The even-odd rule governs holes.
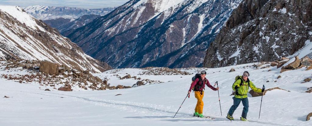
[[[202,66],[242,0],[130,0],[63,35],[114,68]]]

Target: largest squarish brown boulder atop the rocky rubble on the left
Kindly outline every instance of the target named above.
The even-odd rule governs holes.
[[[49,61],[42,61],[39,66],[39,71],[46,74],[59,74],[59,65]]]

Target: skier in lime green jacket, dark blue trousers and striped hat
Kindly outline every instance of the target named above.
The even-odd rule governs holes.
[[[248,121],[246,119],[247,112],[248,112],[248,98],[247,93],[249,87],[255,92],[263,92],[264,89],[257,88],[250,80],[249,80],[249,73],[245,71],[243,76],[240,76],[236,82],[233,83],[232,89],[236,91],[235,96],[233,97],[234,104],[230,108],[229,112],[227,113],[227,119],[234,120],[233,113],[238,107],[238,105],[242,102],[243,103],[243,112],[241,114],[241,121]]]

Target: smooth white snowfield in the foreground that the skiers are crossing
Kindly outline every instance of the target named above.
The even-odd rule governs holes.
[[[257,64],[257,63],[255,63]],[[279,70],[267,72],[270,68],[255,69],[254,64],[242,64],[224,68],[185,68],[182,71],[196,73],[205,69],[207,78],[213,84],[218,81],[222,115],[220,114],[218,93],[206,89],[203,101],[204,114],[215,117],[215,120],[192,117],[196,99],[194,94],[187,98],[177,116],[172,118],[184,100],[191,82],[191,75],[158,75],[146,76],[151,80],[169,81],[160,84],[150,84],[135,88],[105,90],[105,91],[72,91],[62,92],[51,87],[38,86],[36,83],[19,84],[18,82],[0,79],[0,96],[2,107],[0,125],[137,125],[137,126],[189,126],[189,125],[240,125],[240,126],[310,126],[312,121],[305,121],[307,114],[312,112],[312,97],[304,92],[311,87],[311,82],[301,83],[311,77],[311,71],[304,68],[280,73]],[[269,64],[267,64],[269,65]],[[235,68],[235,72],[228,72]],[[263,96],[261,117],[259,116],[261,97],[249,97],[249,122],[228,121],[225,115],[232,105],[232,83],[236,75],[248,70],[250,79],[257,87],[280,87],[285,90],[268,91]],[[140,69],[115,69],[104,72],[103,77],[114,74],[139,75]],[[276,79],[277,76],[282,76]],[[143,77],[143,76],[142,76]],[[145,77],[145,76],[144,76]],[[169,79],[171,77],[172,79]],[[266,82],[266,81],[270,82]],[[274,81],[277,82],[274,82]],[[110,82],[111,81],[111,82]],[[119,80],[109,80],[118,83]],[[51,91],[38,89],[49,88]],[[122,94],[115,96],[117,94]],[[240,105],[234,113],[238,120],[243,106]]]

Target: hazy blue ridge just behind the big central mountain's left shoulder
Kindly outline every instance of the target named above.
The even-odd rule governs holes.
[[[54,28],[59,30],[60,33],[64,35],[63,33],[65,31],[68,32],[68,30],[75,30],[77,28],[85,26],[86,24],[90,23],[91,21],[93,21],[95,18],[98,18],[98,17],[100,17],[100,15],[95,15],[95,14],[84,15],[84,16],[77,18],[74,21],[66,22]]]

